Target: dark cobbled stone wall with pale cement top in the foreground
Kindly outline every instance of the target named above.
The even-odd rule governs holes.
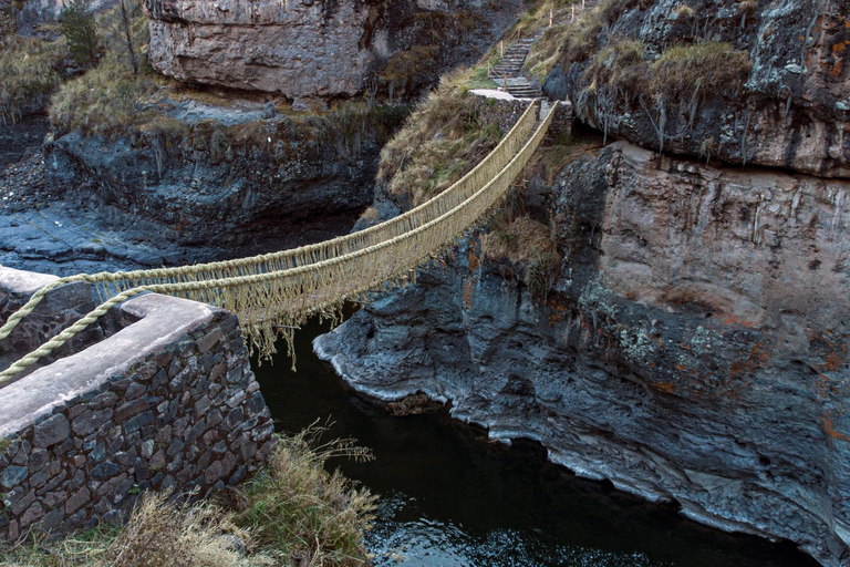
[[[0,389],[0,537],[125,519],[147,489],[239,483],[273,425],[237,319],[158,295],[107,339]]]

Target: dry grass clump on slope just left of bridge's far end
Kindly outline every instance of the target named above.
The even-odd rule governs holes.
[[[448,188],[501,140],[498,125],[483,123],[462,86],[465,73],[445,76],[381,152],[379,178],[413,205]]]

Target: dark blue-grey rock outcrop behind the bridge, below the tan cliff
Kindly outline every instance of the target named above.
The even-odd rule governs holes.
[[[184,261],[245,256],[346,231],[371,203],[380,148],[406,112],[164,117],[167,126],[117,140],[65,134],[45,146],[45,165],[68,187],[69,210],[99,212],[101,229],[132,225],[127,238],[195,248]]]

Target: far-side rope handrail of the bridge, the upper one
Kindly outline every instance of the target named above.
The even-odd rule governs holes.
[[[468,195],[470,195],[477,187],[480,187],[484,178],[493,175],[494,168],[496,172],[501,169],[510,157],[516,154],[517,147],[521,144],[521,141],[528,136],[533,124],[533,104],[529,104],[526,112],[520,116],[508,134],[504,136],[493,152],[490,152],[471,171],[439,195],[436,195],[422,205],[384,223],[322,243],[234,260],[195,264],[174,268],[79,274],[60,278],[39,289],[39,291],[30,297],[29,301],[23,307],[9,317],[6,323],[0,327],[0,340],[7,338],[21,319],[35,309],[35,306],[49,291],[73,281],[87,281],[93,284],[97,291],[99,299],[105,301],[115,293],[139,286],[188,282],[205,279],[224,279],[227,277],[239,277],[296,268],[298,266],[314,264],[349,251],[369,247],[393,238],[400,234],[404,234],[450,209],[455,204],[468,197]],[[487,175],[488,173],[489,175]]]

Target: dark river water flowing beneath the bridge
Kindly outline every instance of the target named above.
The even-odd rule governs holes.
[[[370,547],[381,566],[808,567],[788,543],[709,529],[546,461],[533,442],[507,447],[447,412],[392,417],[349,390],[299,333],[298,373],[281,355],[256,368],[278,429],[317,419],[355,437],[370,463],[336,462],[383,495]]]

